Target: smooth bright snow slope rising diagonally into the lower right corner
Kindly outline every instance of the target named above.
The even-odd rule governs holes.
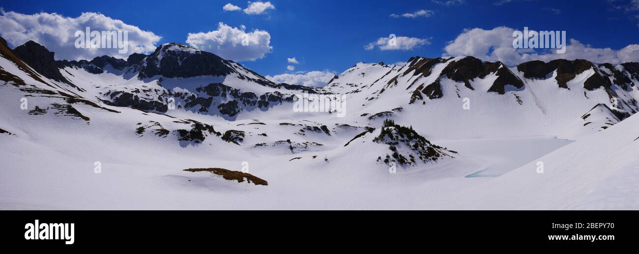
[[[637,126],[639,116],[631,116],[492,181],[454,193],[469,200],[454,208],[639,209]],[[543,174],[538,173],[540,165]]]

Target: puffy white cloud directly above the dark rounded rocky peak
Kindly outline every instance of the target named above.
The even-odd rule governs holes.
[[[233,61],[255,61],[273,50],[271,35],[267,31],[255,29],[247,33],[245,29],[245,26],[230,27],[220,22],[215,31],[189,33],[187,43]],[[247,40],[248,45],[242,45],[242,40]]]

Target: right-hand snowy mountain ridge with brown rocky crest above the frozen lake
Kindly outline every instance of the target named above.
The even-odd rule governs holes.
[[[475,57],[412,57],[403,66],[358,63],[333,78],[323,91],[350,94],[351,101],[362,101],[349,103],[353,117],[402,107],[403,113],[392,114],[396,120],[440,133],[439,137],[527,133],[578,138],[639,110],[633,64],[555,60],[509,67]],[[468,110],[463,108],[465,101]],[[613,114],[616,119],[585,125],[588,122],[581,116],[597,105],[610,110],[595,114]]]

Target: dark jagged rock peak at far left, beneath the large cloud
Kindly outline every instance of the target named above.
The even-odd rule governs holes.
[[[6,45],[6,41],[4,42]],[[70,83],[62,76],[62,73],[60,73],[58,64],[56,64],[56,60],[54,59],[55,53],[50,52],[47,48],[35,41],[27,41],[23,45],[13,49],[13,53],[44,77],[58,82]]]

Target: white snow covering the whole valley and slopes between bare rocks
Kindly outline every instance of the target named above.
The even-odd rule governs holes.
[[[583,81],[594,70],[568,82],[570,89],[560,89],[554,79],[557,73],[533,80],[511,68],[525,88],[505,94],[486,93],[495,75],[472,80],[476,91],[442,78],[443,98],[425,97],[425,103],[409,104],[412,91],[419,84],[434,82],[450,61],[436,64],[429,77],[402,75],[407,66],[356,64],[324,88],[346,94],[343,118],[327,112],[293,112],[292,103],[283,103],[268,110],[243,111],[235,121],[228,121],[184,110],[153,114],[109,107],[99,99],[107,91],[157,89],[148,95],[155,100],[162,91],[195,93],[196,87],[213,82],[257,94],[296,91],[261,86],[235,74],[162,78],[158,84],[160,77],[138,80],[114,70],[96,75],[75,68],[62,70],[86,90],[79,91],[50,80],[56,87],[41,84],[0,57],[4,70],[31,86],[73,91],[119,112],[74,103],[73,108],[90,118],[88,123],[56,115],[52,109],[31,115],[28,111],[36,105],[50,108],[52,103],[66,101],[0,84],[0,128],[15,134],[0,134],[0,209],[639,209],[635,152],[639,151],[639,140],[635,141],[639,116],[606,124],[610,126],[606,130],[600,128],[610,117],[604,111],[594,110],[592,116],[581,119],[594,105],[610,103],[604,89],[583,89]],[[389,84],[394,77],[397,84]],[[622,98],[639,98],[635,90],[617,93]],[[20,109],[23,97],[29,101],[29,110]],[[470,100],[469,110],[462,107],[463,98]],[[392,111],[397,107],[403,109]],[[376,161],[389,153],[387,145],[373,142],[379,130],[344,146],[366,131],[364,127],[379,128],[385,119],[369,121],[362,114],[384,111],[392,111],[396,123],[413,126],[433,144],[458,154],[415,167],[397,166],[391,174],[389,166]],[[245,131],[246,137],[240,145],[215,135],[208,135],[201,144],[180,143],[174,130],[189,128],[190,123],[180,122],[184,119],[211,124],[221,133]],[[142,135],[135,132],[151,121],[171,132],[166,138],[151,130]],[[583,126],[587,121],[593,123]],[[339,128],[339,124],[354,128]],[[300,134],[305,126],[323,125],[330,135]],[[286,140],[296,145],[293,153]],[[305,142],[322,146],[301,147]],[[262,143],[266,146],[255,146]],[[94,172],[96,161],[102,165],[100,174]],[[543,174],[537,173],[539,161]],[[183,171],[240,170],[244,162],[249,163],[249,173],[268,181],[268,186]]]

